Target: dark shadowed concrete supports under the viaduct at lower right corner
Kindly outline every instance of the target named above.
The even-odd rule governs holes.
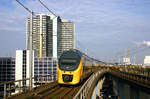
[[[143,92],[136,85],[120,81],[118,78],[112,78],[112,80],[113,90],[118,99],[150,99],[150,94]]]

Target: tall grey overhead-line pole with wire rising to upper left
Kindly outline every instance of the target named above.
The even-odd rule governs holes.
[[[28,9],[26,6],[24,6],[21,2],[19,2],[18,0],[16,0],[23,8],[25,8],[29,13],[30,13],[30,48],[29,48],[29,78],[30,78],[30,82],[29,82],[29,87],[30,90],[32,89],[32,70],[33,70],[33,55],[32,55],[32,32],[33,32],[33,14],[34,12],[31,11],[30,9]]]

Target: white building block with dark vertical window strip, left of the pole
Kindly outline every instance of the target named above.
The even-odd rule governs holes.
[[[32,58],[34,60],[34,51],[32,51]],[[33,62],[34,65],[34,62]],[[22,80],[29,78],[29,50],[16,51],[16,66],[15,66],[15,80]],[[32,73],[34,73],[32,71]],[[16,83],[19,85],[19,83]],[[29,81],[23,81],[21,86],[29,86]]]

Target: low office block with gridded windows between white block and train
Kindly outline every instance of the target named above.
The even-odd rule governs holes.
[[[57,61],[50,57],[34,58],[34,84],[48,83],[57,80]]]

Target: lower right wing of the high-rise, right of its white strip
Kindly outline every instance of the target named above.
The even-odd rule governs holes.
[[[74,48],[74,23],[62,19],[60,31],[58,35],[58,56],[60,56],[64,50]]]

